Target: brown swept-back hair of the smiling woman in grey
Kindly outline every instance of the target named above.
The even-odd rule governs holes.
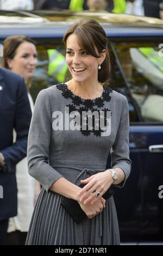
[[[95,47],[98,53],[102,53],[104,49],[106,50],[105,60],[101,64],[101,69],[98,70],[98,81],[106,83],[110,76],[110,57],[106,34],[102,26],[95,20],[80,20],[74,23],[64,35],[65,46],[68,36],[71,34],[76,34],[79,46],[96,58],[100,56],[96,53]]]

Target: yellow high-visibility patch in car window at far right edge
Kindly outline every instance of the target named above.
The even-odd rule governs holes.
[[[152,47],[140,47],[139,51],[163,72],[163,58],[159,56],[159,51],[154,50]]]

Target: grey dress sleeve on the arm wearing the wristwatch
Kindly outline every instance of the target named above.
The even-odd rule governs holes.
[[[110,153],[111,168],[121,168],[125,174],[124,181],[116,185],[121,188],[124,186],[131,168],[131,160],[129,159],[129,109],[126,98],[124,98],[120,125]]]

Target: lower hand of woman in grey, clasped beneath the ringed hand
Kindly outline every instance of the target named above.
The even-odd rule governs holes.
[[[105,199],[102,197],[99,197],[94,204],[78,203],[88,218],[95,217],[97,214],[99,214],[99,212],[102,212],[103,208],[105,208]]]

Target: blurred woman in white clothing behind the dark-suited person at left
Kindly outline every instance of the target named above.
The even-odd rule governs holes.
[[[24,78],[28,90],[30,108],[33,112],[34,103],[29,94],[29,88],[37,65],[37,51],[34,41],[23,35],[9,36],[3,42],[2,65],[4,68],[10,69]],[[16,134],[14,137],[16,137]],[[17,164],[16,180],[18,187],[18,214],[9,220],[8,243],[10,245],[23,245],[26,241],[35,197],[40,192],[39,182],[35,183],[35,180],[28,174],[27,158]]]

